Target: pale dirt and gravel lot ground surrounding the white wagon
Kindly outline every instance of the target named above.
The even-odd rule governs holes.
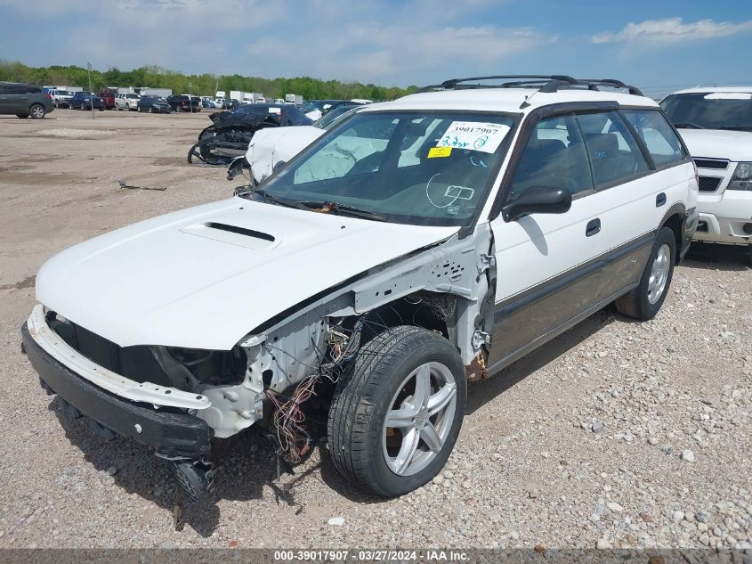
[[[362,495],[321,449],[276,481],[270,446],[247,434],[175,531],[166,463],[67,417],[19,328],[48,257],[230,195],[222,168],[185,162],[208,123],[206,111],[0,117],[0,546],[750,547],[752,270],[713,247],[675,271],[650,323],[606,308],[471,386],[432,484]]]

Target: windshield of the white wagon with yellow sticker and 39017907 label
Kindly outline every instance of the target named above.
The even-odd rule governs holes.
[[[359,112],[247,197],[330,213],[357,209],[360,217],[393,223],[465,225],[486,198],[514,120],[497,113]]]

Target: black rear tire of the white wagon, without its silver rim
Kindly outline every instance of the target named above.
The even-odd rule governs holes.
[[[657,299],[651,302],[650,287],[651,287],[651,274],[653,270],[653,264],[656,262],[656,257],[659,255],[659,250],[667,247],[669,250],[666,282],[661,290]],[[643,275],[640,278],[640,283],[637,287],[616,300],[617,311],[621,315],[627,315],[627,317],[633,317],[641,321],[648,321],[658,314],[660,307],[663,306],[663,302],[666,300],[668,289],[671,286],[671,279],[674,276],[674,264],[676,262],[676,237],[674,232],[668,227],[663,227],[658,236],[655,238],[653,247],[651,249],[651,256],[648,257],[648,262],[643,270]]]

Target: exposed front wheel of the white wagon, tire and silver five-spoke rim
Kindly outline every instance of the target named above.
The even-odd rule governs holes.
[[[447,339],[404,325],[382,332],[337,385],[327,428],[336,468],[384,497],[423,486],[449,458],[465,397],[465,369]]]

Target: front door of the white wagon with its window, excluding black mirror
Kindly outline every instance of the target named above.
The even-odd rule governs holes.
[[[495,208],[530,189],[568,190],[571,208],[562,214],[530,214],[491,220],[497,289],[489,368],[498,369],[550,338],[593,305],[600,266],[594,241],[602,208],[583,136],[574,113],[522,126]]]

